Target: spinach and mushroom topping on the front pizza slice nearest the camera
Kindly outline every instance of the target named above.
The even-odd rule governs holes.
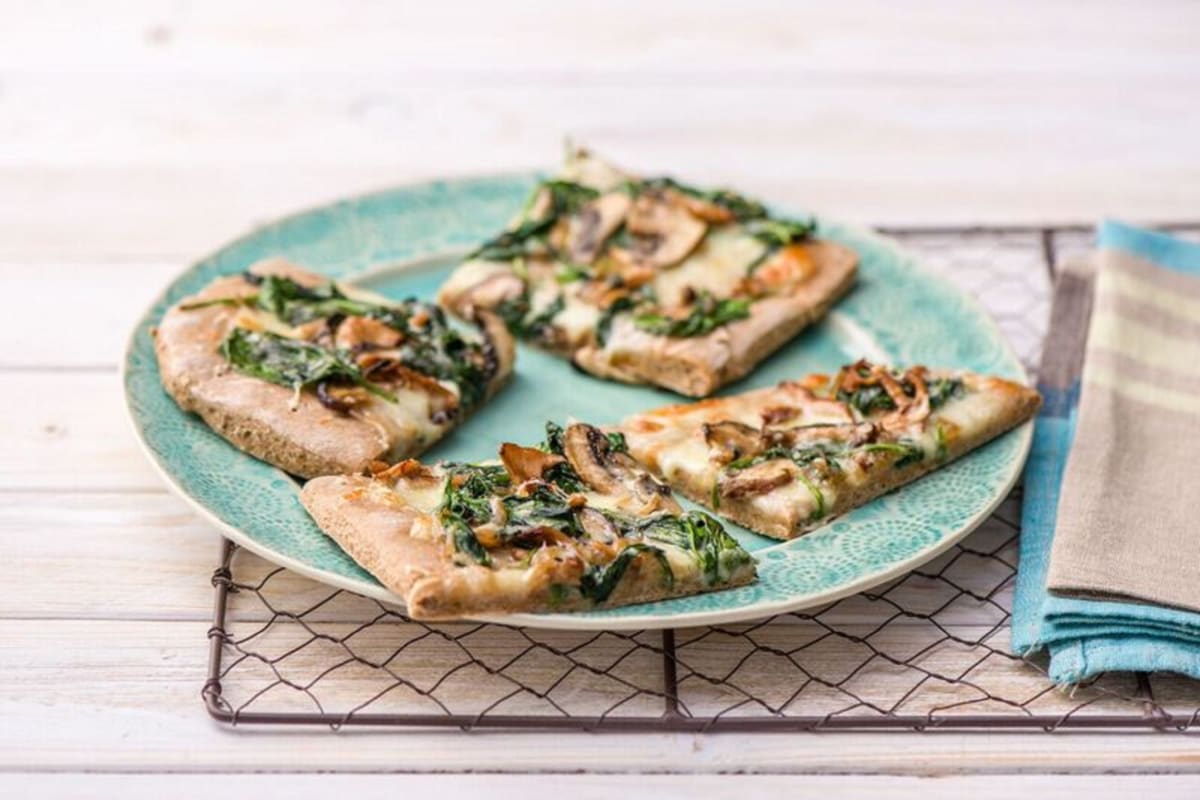
[[[670,588],[688,560],[706,584],[744,575],[752,565],[715,519],[683,515],[668,491],[629,457],[619,434],[551,423],[540,447],[505,444],[500,459],[438,470],[402,462],[377,469],[374,477],[396,481],[397,491],[443,487],[430,513],[456,564],[532,570],[544,576],[538,579],[569,588],[560,590],[568,591],[560,601],[574,591],[576,599],[602,603],[626,575],[648,579],[646,570]],[[626,510],[619,500],[641,497],[647,482],[658,497],[667,492],[666,503]]]

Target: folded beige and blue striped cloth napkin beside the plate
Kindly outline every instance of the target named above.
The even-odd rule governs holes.
[[[1200,245],[1104,223],[1063,265],[1025,473],[1013,649],[1200,678]]]

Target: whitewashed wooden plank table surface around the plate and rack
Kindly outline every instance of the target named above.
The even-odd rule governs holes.
[[[230,732],[199,702],[217,536],[138,452],[116,379],[161,284],[256,223],[546,166],[565,136],[850,221],[1194,218],[1198,30],[1194,2],[0,4],[0,796],[446,790],[325,771],[983,795],[1007,784],[968,774],[1200,770],[1194,736],[1154,734]],[[1129,788],[1075,780],[1022,788]]]

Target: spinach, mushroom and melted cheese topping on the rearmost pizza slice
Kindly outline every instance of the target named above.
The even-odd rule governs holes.
[[[707,336],[816,269],[802,246],[812,219],[772,218],[728,190],[590,169],[598,163],[569,156],[563,174],[575,180],[539,184],[520,219],[468,257],[460,271],[474,277],[451,278],[450,302],[496,308],[515,335],[552,349],[604,348],[619,314],[632,312],[634,327],[653,336]],[[511,279],[480,273],[499,261]],[[544,285],[557,289],[545,302]]]

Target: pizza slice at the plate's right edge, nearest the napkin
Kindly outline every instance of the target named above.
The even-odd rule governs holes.
[[[1001,378],[858,361],[832,378],[637,414],[619,431],[684,495],[793,539],[1032,419],[1040,403]]]

